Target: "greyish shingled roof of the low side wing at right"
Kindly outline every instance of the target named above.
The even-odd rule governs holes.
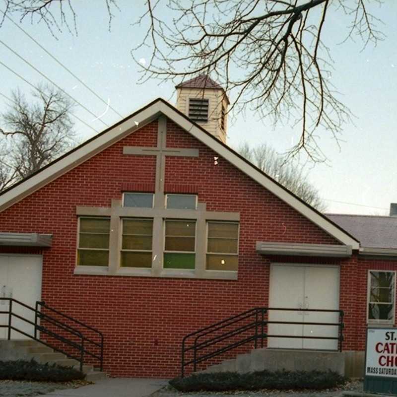
[[[397,249],[397,216],[327,214],[356,236],[362,247]]]

